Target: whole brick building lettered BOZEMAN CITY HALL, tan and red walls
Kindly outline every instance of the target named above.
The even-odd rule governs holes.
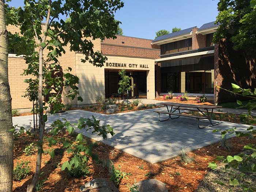
[[[82,53],[70,52],[59,59],[65,70],[79,78],[79,92],[83,102],[63,99],[72,105],[95,103],[95,98],[116,96],[120,77],[118,71],[126,69],[131,76],[133,88],[130,98],[154,99],[173,91],[179,95],[187,91],[190,98],[206,94],[208,100],[216,102],[233,101],[233,95],[215,89],[215,85],[232,90],[231,83],[244,88],[256,87],[255,59],[241,51],[234,51],[227,39],[213,44],[213,34],[219,25],[206,23],[157,37],[154,40],[117,35],[116,39],[93,40],[94,50],[108,58],[103,67],[82,63]],[[7,26],[11,33],[19,31],[15,26]],[[15,54],[8,56],[9,82],[12,109],[31,108],[32,103],[25,94],[27,84],[22,76],[27,67],[25,60]],[[63,94],[67,90],[64,90]]]

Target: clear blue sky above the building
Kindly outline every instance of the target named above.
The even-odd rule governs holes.
[[[124,35],[154,39],[160,29],[186,29],[212,22],[218,15],[219,0],[123,0],[124,7],[116,13]],[[23,0],[9,3],[19,7]]]

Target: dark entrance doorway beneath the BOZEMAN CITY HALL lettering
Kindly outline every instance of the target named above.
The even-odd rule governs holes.
[[[147,72],[146,71],[127,71],[131,77],[130,85],[135,84],[132,91],[129,91],[128,98],[147,98]],[[105,98],[118,97],[118,82],[120,76],[117,70],[105,69]],[[122,94],[123,97],[123,94]],[[125,98],[127,94],[125,94]]]

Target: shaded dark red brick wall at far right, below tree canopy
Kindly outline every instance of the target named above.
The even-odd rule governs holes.
[[[219,87],[233,90],[231,83],[235,83],[244,89],[254,90],[256,87],[255,58],[245,55],[242,51],[233,50],[232,47],[233,44],[227,40],[222,40],[215,45],[215,85],[217,83]],[[217,88],[217,102],[232,102],[236,99],[238,98],[234,94]]]

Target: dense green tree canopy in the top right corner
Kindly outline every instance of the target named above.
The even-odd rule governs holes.
[[[220,0],[217,23],[221,23],[214,41],[227,38],[234,43],[233,49],[256,53],[256,5],[255,0]]]

